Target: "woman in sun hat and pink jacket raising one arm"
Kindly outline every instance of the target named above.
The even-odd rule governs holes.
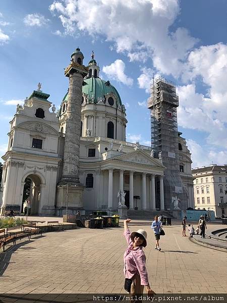
[[[124,236],[126,237],[128,248],[124,254],[124,273],[127,284],[127,291],[134,294],[142,294],[144,286],[147,293],[153,294],[154,291],[150,288],[148,282],[148,275],[146,270],[146,256],[143,251],[143,247],[147,245],[147,233],[143,229],[139,229],[130,233],[128,223],[131,219],[124,221]],[[125,284],[125,285],[126,285]],[[131,288],[130,288],[131,285]],[[132,300],[131,302],[141,302],[138,300]]]

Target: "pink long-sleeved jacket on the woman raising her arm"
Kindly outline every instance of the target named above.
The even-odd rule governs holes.
[[[138,246],[136,249],[133,249],[133,242],[130,235],[129,229],[124,232],[124,236],[129,245],[124,254],[125,277],[131,279],[135,274],[138,274],[140,275],[141,285],[148,285],[148,275],[145,265],[146,257],[143,248],[142,246]]]

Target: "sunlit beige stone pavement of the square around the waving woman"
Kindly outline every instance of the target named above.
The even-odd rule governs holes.
[[[221,226],[217,226],[217,228]],[[135,231],[141,226],[132,226]],[[209,228],[209,224],[208,224]],[[166,226],[159,252],[149,226],[147,271],[157,293],[226,293],[225,252],[182,237]],[[123,228],[76,229],[18,241],[0,254],[0,293],[126,293]]]

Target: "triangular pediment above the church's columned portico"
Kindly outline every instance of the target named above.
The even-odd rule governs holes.
[[[160,168],[164,168],[164,166],[157,159],[148,156],[146,153],[144,153],[143,150],[135,150],[132,151],[131,153],[111,158],[111,160],[144,164],[144,165],[156,166],[156,167],[158,166]]]

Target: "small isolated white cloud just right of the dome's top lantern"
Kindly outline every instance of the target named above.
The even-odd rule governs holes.
[[[110,65],[103,66],[102,71],[110,77],[110,79],[117,80],[129,86],[133,84],[133,79],[125,74],[125,63],[120,59],[117,59]]]

